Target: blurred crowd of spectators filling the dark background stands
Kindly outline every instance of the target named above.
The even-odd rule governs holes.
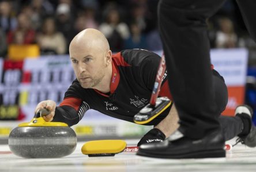
[[[41,54],[67,54],[70,41],[86,28],[99,29],[111,50],[161,50],[158,0],[0,0],[0,57],[10,44],[37,44]],[[208,20],[212,48],[256,49],[235,0]],[[178,44],[178,42],[177,42]]]

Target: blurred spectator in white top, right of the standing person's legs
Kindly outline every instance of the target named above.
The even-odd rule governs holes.
[[[235,48],[238,36],[234,32],[234,26],[229,18],[220,18],[220,30],[216,33],[216,48]]]

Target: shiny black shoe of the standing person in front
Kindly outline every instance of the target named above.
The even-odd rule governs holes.
[[[187,138],[176,130],[164,142],[142,144],[137,155],[172,159],[220,158],[225,157],[224,146],[221,130],[212,131],[202,139]]]

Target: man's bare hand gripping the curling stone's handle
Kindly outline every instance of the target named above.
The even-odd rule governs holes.
[[[44,119],[46,122],[51,122],[52,119],[53,119],[53,117],[54,117],[54,114],[55,114],[55,108],[56,108],[56,103],[55,103],[55,101],[52,101],[52,100],[44,100],[44,101],[41,101],[39,104],[37,104],[35,113],[36,113],[38,110],[42,110],[43,108],[46,108],[48,111],[50,111],[50,114],[49,114],[49,115],[46,115],[46,116],[43,116],[43,119]]]

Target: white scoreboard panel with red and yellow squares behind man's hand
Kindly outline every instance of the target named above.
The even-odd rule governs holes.
[[[50,99],[58,105],[74,79],[67,55],[25,59],[19,87],[22,112],[31,119],[40,101]]]

